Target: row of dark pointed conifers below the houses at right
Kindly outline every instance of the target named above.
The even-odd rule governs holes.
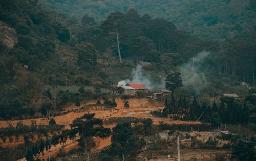
[[[212,105],[206,101],[199,104],[194,98],[193,102],[189,104],[185,97],[176,101],[172,95],[171,101],[165,99],[165,108],[159,111],[153,111],[157,116],[166,117],[168,114],[172,115],[174,119],[181,120],[197,120],[204,123],[211,123],[213,128],[220,127],[222,124],[248,124],[253,125],[255,129],[255,100],[256,97],[248,95],[245,100],[234,99],[233,97],[222,97],[220,104],[213,102]],[[184,115],[184,116],[183,116]],[[183,117],[181,117],[183,116]]]

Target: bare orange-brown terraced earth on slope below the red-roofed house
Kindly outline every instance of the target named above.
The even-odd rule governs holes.
[[[113,118],[113,117],[126,117],[126,116],[131,116],[136,118],[151,118],[153,120],[153,124],[156,124],[156,125],[159,124],[159,121],[162,121],[167,124],[183,124],[183,123],[201,124],[200,122],[184,122],[179,120],[170,120],[168,118],[154,117],[150,114],[150,111],[163,109],[164,104],[160,102],[150,101],[147,98],[141,98],[141,99],[131,98],[126,100],[117,98],[115,101],[117,103],[117,107],[112,109],[100,108],[98,106],[90,106],[90,108],[88,108],[87,110],[82,109],[83,106],[88,106],[90,104],[95,105],[96,101],[82,103],[80,107],[76,107],[75,105],[70,105],[70,106],[64,107],[64,109],[66,111],[72,110],[72,109],[81,109],[81,110],[78,110],[78,112],[72,111],[72,112],[69,112],[60,116],[51,117],[51,118],[54,118],[57,124],[65,125],[65,129],[70,129],[70,124],[72,124],[72,121],[75,120],[76,118],[83,116],[86,113],[95,113],[95,117],[101,118],[101,119]],[[126,101],[129,102],[129,108],[124,107],[124,104]],[[101,102],[103,103],[102,100]],[[37,125],[49,124],[49,120],[47,118],[36,118],[36,119],[25,119],[25,120],[1,120],[0,127],[9,127],[9,125],[16,126],[18,122],[22,122],[24,125],[31,125],[31,121],[35,121]],[[115,125],[116,123],[112,123],[112,124],[104,124],[103,126],[113,128]],[[106,139],[94,138],[96,142],[96,147],[92,150],[99,150],[106,146],[109,146],[111,144],[110,138],[111,137],[108,137]],[[23,144],[23,143],[24,143],[23,140],[20,139],[16,143],[0,142],[0,146],[10,147],[17,144]],[[64,150],[68,152],[69,150],[77,147],[78,147],[77,141],[72,142],[68,140],[66,142]],[[56,156],[57,152],[59,151],[57,149],[60,149],[60,148],[61,148],[60,144],[56,146],[56,150],[54,150],[54,147],[51,147],[50,149],[51,157]],[[42,156],[39,156],[39,158],[42,158]],[[44,156],[44,158],[47,158],[47,156]]]

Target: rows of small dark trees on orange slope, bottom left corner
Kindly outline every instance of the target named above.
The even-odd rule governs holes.
[[[51,145],[56,146],[61,140],[60,136],[55,133],[61,133],[64,125],[57,125],[54,119],[49,121],[49,125],[37,125],[36,122],[32,121],[31,126],[23,125],[21,122],[17,124],[16,127],[1,128],[1,139],[3,142],[6,141],[9,137],[9,141],[12,142],[12,136],[15,135],[16,140],[18,141],[20,136],[23,136],[24,144],[19,145],[18,149],[14,149],[15,152],[18,152],[17,155],[13,155],[12,148],[7,150],[0,151],[1,158],[4,160],[17,160],[23,157],[26,157],[27,160],[40,160],[37,154],[42,153],[44,155],[44,150],[51,148]],[[49,137],[49,133],[53,134],[52,137]],[[12,152],[12,154],[10,154]],[[38,155],[37,155],[38,156]]]

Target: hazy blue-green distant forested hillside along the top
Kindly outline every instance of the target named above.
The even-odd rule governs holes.
[[[202,39],[235,38],[239,34],[249,35],[255,31],[256,3],[252,0],[227,1],[59,1],[41,0],[44,8],[67,17],[81,20],[84,14],[97,22],[104,20],[112,12],[126,13],[135,8],[141,15],[162,17],[182,29]]]

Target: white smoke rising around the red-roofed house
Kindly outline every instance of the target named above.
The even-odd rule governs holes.
[[[118,82],[117,86],[125,86],[127,83],[140,83],[143,84],[149,90],[157,90],[159,88],[164,88],[164,80],[162,80],[161,83],[156,83],[143,73],[143,67],[140,64],[138,64],[136,68],[132,70],[131,79],[127,78],[125,80],[122,80]]]

